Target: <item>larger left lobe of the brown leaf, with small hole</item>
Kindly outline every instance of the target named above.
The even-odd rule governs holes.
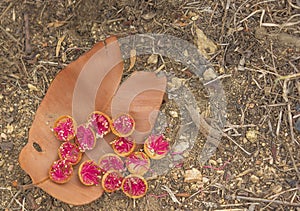
[[[93,67],[98,71],[100,70],[101,73],[103,71],[108,72],[107,74],[99,74],[102,78],[97,80],[103,83],[99,83],[99,92],[95,93],[101,98],[101,101],[96,102],[96,107],[108,110],[107,107],[122,77],[123,61],[117,39],[111,37],[105,43],[106,45],[103,42],[96,44],[89,52],[68,65],[56,76],[36,112],[34,122],[29,131],[28,143],[19,156],[21,167],[30,175],[34,184],[53,197],[69,204],[81,205],[89,203],[99,198],[103,190],[100,186],[86,187],[82,185],[77,176],[78,166],[74,168],[76,173],[72,176],[71,181],[64,185],[58,185],[49,180],[48,170],[51,163],[58,159],[57,149],[61,144],[55,138],[51,127],[57,117],[61,115],[72,116],[74,112],[77,112],[75,113],[75,120],[81,123],[95,109],[95,97],[91,96],[91,98],[88,98],[88,94],[94,91],[94,87],[82,86],[81,82],[77,81],[78,79],[89,79],[89,77],[79,77],[86,68]],[[95,63],[95,60],[97,60],[97,63]],[[101,66],[102,63],[104,66]],[[108,67],[111,68],[107,71],[105,68]],[[85,72],[90,74],[89,71]],[[82,81],[82,83],[90,82]],[[96,86],[97,88],[99,84]],[[76,97],[82,96],[80,102],[86,102],[79,105],[82,106],[82,112],[80,112],[80,109],[76,110],[76,108],[72,107],[72,102],[74,103],[75,100],[73,99],[74,90],[76,90],[78,85],[81,85],[82,92],[77,93]],[[94,102],[91,103],[93,100]],[[89,107],[92,104],[93,107]],[[85,108],[86,105],[88,105],[87,108]],[[37,143],[42,151],[36,151],[33,143]],[[84,160],[87,160],[86,155],[83,156]]]

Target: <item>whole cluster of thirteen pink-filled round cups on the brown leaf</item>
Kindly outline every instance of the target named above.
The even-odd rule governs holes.
[[[106,192],[122,189],[131,198],[143,197],[148,190],[143,175],[150,169],[150,158],[163,158],[170,147],[163,135],[150,135],[144,142],[144,152],[135,151],[136,143],[130,136],[134,129],[135,121],[129,114],[111,120],[106,114],[95,111],[85,124],[79,126],[71,116],[59,117],[53,132],[62,144],[58,149],[59,160],[54,161],[49,169],[50,179],[60,184],[68,182],[73,175],[73,166],[80,162],[82,154],[92,150],[98,138],[113,132],[116,138],[111,145],[115,154],[103,155],[98,163],[93,160],[82,162],[79,179],[87,186],[101,183]],[[126,169],[130,174],[124,177]]]

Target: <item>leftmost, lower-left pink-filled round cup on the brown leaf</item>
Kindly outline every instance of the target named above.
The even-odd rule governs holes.
[[[73,167],[70,161],[57,160],[54,161],[49,169],[49,177],[53,182],[66,183],[71,179]]]

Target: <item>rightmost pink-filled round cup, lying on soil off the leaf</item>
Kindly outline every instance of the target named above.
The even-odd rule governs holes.
[[[150,135],[144,143],[144,149],[150,158],[161,158],[169,152],[170,144],[163,135]]]

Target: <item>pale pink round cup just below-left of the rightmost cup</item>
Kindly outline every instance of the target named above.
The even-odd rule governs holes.
[[[143,152],[134,152],[126,158],[126,166],[130,173],[144,175],[150,169],[150,159]]]

